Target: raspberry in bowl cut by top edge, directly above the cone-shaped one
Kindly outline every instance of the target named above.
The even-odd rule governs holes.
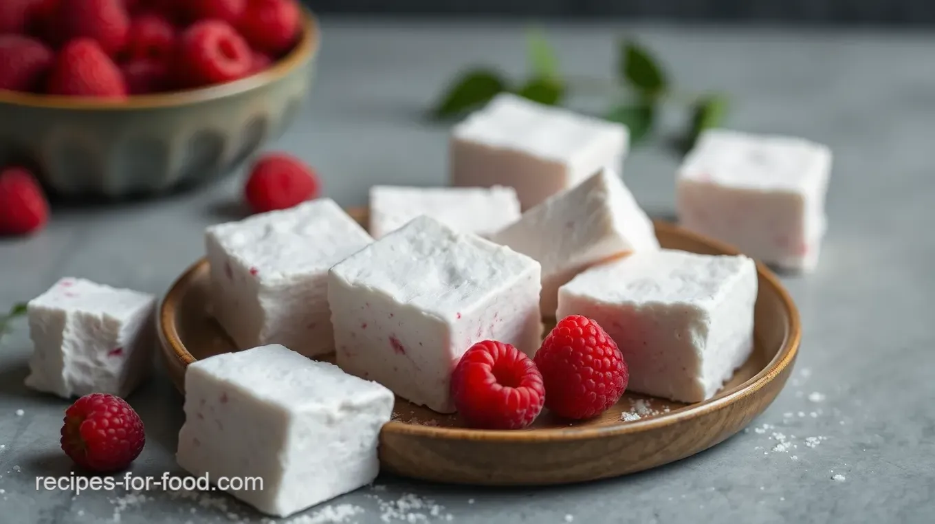
[[[122,50],[130,31],[130,15],[122,0],[63,1],[57,18],[63,41],[94,38],[110,56]]]

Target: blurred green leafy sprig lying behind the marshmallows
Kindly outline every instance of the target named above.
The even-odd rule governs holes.
[[[653,135],[658,115],[667,104],[682,104],[685,126],[677,142],[692,147],[705,129],[721,126],[728,109],[726,95],[685,95],[675,93],[669,72],[654,53],[634,39],[618,44],[616,74],[610,82],[598,80],[601,91],[617,102],[601,116],[625,124],[634,144]],[[476,67],[453,81],[432,110],[437,119],[450,119],[478,109],[500,93],[514,93],[540,104],[559,106],[574,95],[576,86],[593,92],[596,82],[564,78],[558,55],[539,29],[526,33],[527,76],[511,80],[489,67]],[[593,79],[591,79],[593,80]],[[687,103],[685,102],[687,100]]]

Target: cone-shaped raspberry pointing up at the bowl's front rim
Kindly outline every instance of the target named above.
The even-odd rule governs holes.
[[[47,91],[50,95],[122,99],[126,97],[126,84],[120,69],[97,42],[79,38],[68,42],[59,53]]]

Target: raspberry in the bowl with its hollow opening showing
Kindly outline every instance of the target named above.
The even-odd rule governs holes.
[[[250,46],[229,23],[195,22],[181,36],[180,63],[192,86],[223,83],[250,74]]]

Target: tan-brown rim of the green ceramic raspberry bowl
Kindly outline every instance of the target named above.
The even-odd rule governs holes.
[[[280,80],[295,68],[312,59],[321,45],[321,30],[318,20],[309,7],[299,3],[301,17],[301,36],[289,51],[265,71],[234,80],[194,89],[185,89],[155,95],[132,95],[126,100],[107,101],[87,96],[39,95],[16,91],[0,90],[0,105],[36,108],[36,109],[71,109],[98,111],[126,111],[134,109],[176,108],[187,105],[217,100],[238,95]]]

